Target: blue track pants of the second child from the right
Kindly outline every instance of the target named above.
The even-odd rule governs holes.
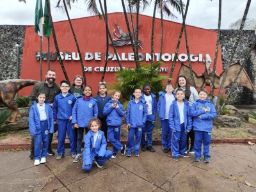
[[[180,124],[180,131],[173,132],[172,134],[172,156],[177,157],[179,154],[184,154],[186,145],[187,132],[185,132],[184,124]]]

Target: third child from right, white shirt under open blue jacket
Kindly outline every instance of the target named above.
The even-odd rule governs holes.
[[[175,93],[173,93],[172,83],[166,83],[164,88],[166,92],[159,92],[160,97],[157,102],[157,113],[161,121],[163,152],[167,153],[168,150],[172,149],[172,131],[170,131],[169,127],[169,110],[173,100],[175,100]]]

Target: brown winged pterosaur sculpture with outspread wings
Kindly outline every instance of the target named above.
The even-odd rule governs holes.
[[[204,72],[202,74],[198,75],[198,74],[196,74],[195,71],[193,71],[193,76],[194,76],[195,84],[196,84],[197,88],[204,88],[205,86],[212,86],[212,83],[211,83],[212,68],[210,68],[210,65],[211,65],[211,60],[207,60],[207,58],[205,58]],[[227,78],[225,79],[224,88],[227,86],[230,86],[232,83],[234,83],[234,79],[237,76],[237,73],[238,73],[240,67],[241,67],[240,61],[237,61],[237,63],[230,65],[230,67],[228,68]],[[213,85],[214,89],[220,88],[220,84],[223,79],[224,72],[225,72],[225,70],[223,70],[223,72],[221,72],[220,75],[215,73],[215,80],[214,80],[214,85]],[[190,83],[192,82],[188,65],[185,65],[184,63],[182,63],[178,76],[179,75],[184,75],[184,76],[188,77],[189,82]],[[250,77],[248,76],[248,74],[246,73],[244,68],[241,71],[236,83],[240,84],[241,86],[246,86],[248,89],[255,92],[255,88],[253,87],[252,81],[250,80]]]

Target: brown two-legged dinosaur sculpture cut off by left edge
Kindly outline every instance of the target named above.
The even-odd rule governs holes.
[[[14,111],[12,120],[10,123],[15,122],[19,113],[18,106],[14,102],[14,97],[19,90],[26,86],[34,85],[39,81],[32,79],[9,79],[0,81],[0,102],[3,102],[4,106]]]

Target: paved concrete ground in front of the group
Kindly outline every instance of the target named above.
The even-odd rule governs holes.
[[[88,173],[82,160],[48,156],[34,166],[29,151],[0,152],[0,191],[256,191],[256,146],[211,146],[211,163],[180,157],[176,162],[160,146],[140,157],[110,159]],[[56,152],[56,149],[54,149]],[[250,186],[251,185],[251,186]]]

